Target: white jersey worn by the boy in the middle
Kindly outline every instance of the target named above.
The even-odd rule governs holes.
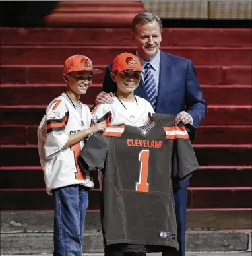
[[[92,110],[92,120],[94,123],[105,121],[106,124],[125,125],[131,126],[144,126],[148,123],[149,113],[155,113],[151,104],[135,96],[134,108],[127,108],[129,102],[120,102],[120,100],[114,95],[112,104],[99,104],[94,110]]]

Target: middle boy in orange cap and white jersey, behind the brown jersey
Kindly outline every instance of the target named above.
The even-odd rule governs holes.
[[[92,111],[94,123],[105,121],[111,125],[121,123],[132,126],[146,125],[148,115],[154,113],[154,109],[147,100],[134,94],[141,77],[139,58],[131,53],[121,53],[115,57],[111,77],[117,83],[113,103],[99,104],[94,108]]]

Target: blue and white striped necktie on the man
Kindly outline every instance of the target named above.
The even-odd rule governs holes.
[[[148,98],[150,99],[150,103],[152,104],[152,107],[156,108],[156,84],[154,75],[152,74],[150,70],[150,63],[147,63],[145,65],[145,74],[144,74],[144,86],[146,88],[146,92],[148,94]]]

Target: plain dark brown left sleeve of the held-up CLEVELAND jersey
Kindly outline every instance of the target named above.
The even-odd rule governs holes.
[[[108,137],[94,133],[80,151],[78,165],[82,170],[103,169],[108,152]]]

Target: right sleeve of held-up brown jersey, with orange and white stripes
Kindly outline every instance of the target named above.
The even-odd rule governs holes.
[[[173,179],[185,181],[191,177],[193,171],[199,169],[199,164],[185,126],[179,124],[174,128],[170,131],[170,135],[167,135],[170,136],[168,139],[173,140],[172,176]]]

